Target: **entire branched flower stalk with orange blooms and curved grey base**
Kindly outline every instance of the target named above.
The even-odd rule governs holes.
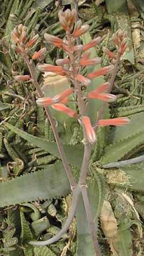
[[[101,62],[100,58],[90,59],[89,58],[90,52],[88,51],[91,47],[94,47],[101,42],[101,37],[96,37],[85,46],[83,46],[79,42],[79,36],[83,35],[88,31],[89,25],[87,24],[82,25],[82,22],[78,20],[77,18],[78,13],[76,10],[77,9],[76,0],[74,1],[74,4],[75,4],[75,9],[72,9],[72,10],[67,9],[65,12],[60,10],[59,12],[59,21],[60,21],[60,24],[62,25],[62,28],[66,32],[66,39],[62,40],[57,36],[53,36],[47,33],[44,34],[44,38],[48,43],[53,44],[54,46],[65,51],[66,57],[64,59],[57,59],[56,60],[57,66],[44,63],[43,65],[39,64],[38,69],[42,72],[51,71],[56,74],[60,74],[61,76],[66,76],[71,81],[70,88],[67,88],[65,91],[59,94],[56,94],[53,97],[44,97],[44,94],[41,91],[40,85],[37,82],[35,69],[33,68],[33,64],[32,64],[33,61],[35,61],[36,59],[40,59],[41,56],[45,54],[46,48],[45,47],[41,48],[39,51],[35,52],[35,54],[33,54],[32,57],[30,57],[31,47],[33,46],[33,44],[36,43],[38,36],[37,35],[34,36],[32,39],[30,39],[27,42],[26,27],[23,26],[22,24],[18,25],[18,27],[15,28],[12,32],[12,40],[15,43],[12,47],[18,54],[22,55],[22,57],[24,58],[24,61],[28,66],[29,73],[31,74],[31,76],[29,75],[15,76],[14,79],[17,81],[31,80],[35,85],[37,94],[39,96],[39,99],[36,100],[36,103],[39,106],[43,106],[46,110],[46,114],[51,123],[52,130],[54,131],[55,140],[58,145],[60,157],[62,159],[67,177],[70,182],[71,191],[73,193],[73,201],[72,201],[69,217],[67,218],[64,227],[61,229],[58,235],[46,241],[40,241],[40,242],[30,241],[29,244],[32,244],[34,246],[41,246],[41,245],[54,243],[57,240],[59,240],[62,237],[62,235],[65,234],[71,222],[73,221],[73,218],[77,209],[79,194],[82,193],[86,215],[88,217],[89,227],[92,233],[94,251],[96,253],[96,256],[100,256],[101,253],[100,253],[100,247],[98,246],[97,232],[94,228],[93,216],[90,210],[86,178],[88,176],[89,160],[92,152],[92,145],[96,143],[96,131],[98,126],[106,126],[106,125],[122,126],[122,125],[127,125],[129,123],[128,118],[115,118],[115,119],[107,119],[107,120],[102,119],[104,110],[105,110],[105,104],[116,100],[116,96],[111,94],[111,88],[113,85],[113,81],[115,80],[116,72],[118,70],[120,57],[124,54],[124,51],[126,50],[126,47],[127,47],[127,39],[126,39],[126,33],[123,32],[122,30],[119,30],[118,32],[116,32],[116,34],[113,36],[113,42],[115,43],[115,46],[116,46],[116,54],[113,54],[113,52],[109,51],[108,48],[104,48],[105,54],[107,54],[108,57],[113,59],[113,61],[115,62],[115,65],[101,67],[101,69],[98,69],[93,73],[89,73],[87,77],[83,76],[81,74],[82,67],[88,66],[88,65],[97,65]],[[31,59],[29,60],[29,58]],[[93,91],[89,92],[87,96],[84,95],[84,92],[82,91],[82,86],[87,87],[90,85],[90,82],[93,78],[104,76],[106,74],[112,74],[111,80],[109,82],[104,82],[103,84],[98,86],[97,89],[94,89]],[[69,96],[72,95],[73,93],[77,95],[78,111],[75,111],[66,106],[67,101],[69,101]],[[88,101],[89,99],[93,99],[93,100],[98,99],[104,102],[103,106],[101,107],[101,111],[99,112],[96,125],[94,125],[94,127],[92,126],[90,122],[90,118],[86,111],[86,101]],[[83,127],[84,158],[82,161],[82,167],[81,167],[78,183],[75,182],[74,177],[71,173],[70,167],[68,165],[68,161],[66,159],[63,146],[60,142],[58,131],[56,129],[54,120],[52,119],[51,112],[48,108],[49,105],[51,105],[51,107],[54,108],[54,110],[63,112],[69,115],[71,118],[77,119],[79,124]]]

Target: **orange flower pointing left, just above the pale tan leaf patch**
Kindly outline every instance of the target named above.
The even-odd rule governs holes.
[[[40,71],[51,71],[54,73],[61,74],[62,76],[65,76],[65,71],[61,66],[54,66],[50,64],[43,64],[37,66]]]

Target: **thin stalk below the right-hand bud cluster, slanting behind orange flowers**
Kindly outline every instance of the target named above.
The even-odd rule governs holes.
[[[119,62],[120,62],[120,54],[118,54],[117,58],[116,58],[116,62],[115,62],[115,67],[113,69],[113,72],[112,72],[112,76],[111,76],[111,79],[109,81],[109,84],[110,84],[110,87],[109,87],[109,90],[108,90],[108,93],[111,92],[111,89],[112,89],[112,86],[113,86],[113,82],[115,81],[115,77],[116,77],[116,74],[118,72],[118,65],[119,65]],[[98,118],[97,118],[97,121],[96,121],[96,124],[94,125],[94,130],[95,132],[97,132],[97,129],[98,129],[98,121],[100,119],[103,118],[103,115],[104,115],[104,111],[105,111],[105,107],[107,106],[108,103],[104,102],[103,105],[101,106],[101,111],[99,112],[98,114]]]

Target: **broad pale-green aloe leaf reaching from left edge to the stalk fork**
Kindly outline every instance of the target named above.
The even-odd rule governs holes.
[[[0,184],[0,207],[59,198],[70,193],[69,181],[60,161],[48,168]]]

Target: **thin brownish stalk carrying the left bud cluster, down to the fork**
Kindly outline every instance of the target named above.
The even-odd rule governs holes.
[[[29,61],[28,56],[26,54],[24,55],[24,60],[25,60],[26,64],[28,65],[28,69],[29,69],[29,72],[31,73],[31,77],[32,77],[32,82],[35,85],[35,88],[37,90],[37,93],[38,93],[39,97],[44,97],[43,91],[41,91],[41,88],[40,88],[40,86],[39,86],[39,84],[37,82],[36,75],[35,75],[35,70],[33,69],[32,64]],[[62,159],[63,165],[65,167],[67,178],[69,179],[69,182],[70,182],[71,190],[73,191],[74,187],[77,184],[76,184],[76,182],[74,180],[73,174],[71,173],[69,164],[67,163],[65,152],[64,152],[63,146],[62,146],[62,144],[60,142],[59,134],[58,134],[58,131],[56,129],[54,120],[53,120],[53,118],[51,116],[51,112],[50,112],[48,107],[44,107],[44,108],[46,110],[46,114],[48,116],[48,119],[49,119],[49,121],[51,123],[51,127],[52,127],[52,130],[53,130],[54,135],[55,135],[55,140],[56,140],[56,143],[58,145],[59,154],[60,154],[60,157]]]

